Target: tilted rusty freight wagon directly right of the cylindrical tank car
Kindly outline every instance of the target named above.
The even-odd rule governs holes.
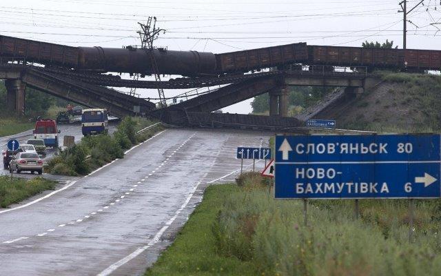
[[[306,43],[227,52],[216,55],[216,69],[219,73],[248,72],[284,64],[302,63],[308,59]]]

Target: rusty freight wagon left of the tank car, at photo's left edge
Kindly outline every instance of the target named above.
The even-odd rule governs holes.
[[[0,36],[0,57],[76,68],[78,54],[79,50],[76,47]]]

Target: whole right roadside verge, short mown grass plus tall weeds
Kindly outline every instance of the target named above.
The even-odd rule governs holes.
[[[267,181],[266,181],[267,182]],[[438,275],[441,201],[276,201],[258,175],[210,186],[176,241],[146,275]]]

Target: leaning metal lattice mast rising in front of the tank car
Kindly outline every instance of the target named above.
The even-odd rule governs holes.
[[[139,22],[138,22],[139,23]],[[149,17],[147,19],[147,24],[139,23],[141,26],[141,31],[138,31],[139,37],[141,38],[141,48],[145,49],[150,54],[150,59],[152,61],[152,71],[154,79],[156,80],[156,88],[158,89],[159,99],[163,107],[167,106],[165,102],[164,90],[158,85],[158,81],[161,81],[161,75],[158,70],[158,63],[156,63],[156,58],[154,57],[154,47],[153,41],[158,39],[158,34],[164,32],[163,29],[156,28],[156,17]]]

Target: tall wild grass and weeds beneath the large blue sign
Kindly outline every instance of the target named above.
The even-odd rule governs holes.
[[[351,204],[310,201],[305,226],[301,201],[274,200],[263,181],[245,184],[218,213],[216,248],[265,275],[440,274],[441,201],[417,201],[411,243],[407,201],[361,201],[358,220]]]

